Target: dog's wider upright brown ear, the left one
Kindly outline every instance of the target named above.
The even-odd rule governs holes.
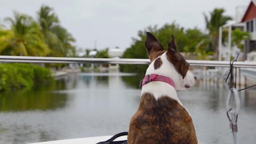
[[[153,53],[155,53],[157,51],[163,51],[164,50],[163,46],[149,32],[147,32],[147,38],[146,38],[146,41],[145,41],[145,47],[148,50],[148,57],[149,57],[149,59],[150,59],[150,55],[152,55]],[[153,60],[151,60],[151,61],[153,61]]]

